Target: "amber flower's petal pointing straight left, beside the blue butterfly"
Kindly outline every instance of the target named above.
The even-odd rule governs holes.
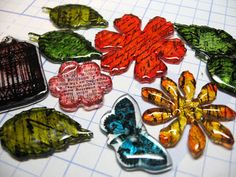
[[[171,112],[165,108],[151,108],[143,113],[143,121],[149,125],[165,123],[173,118]]]

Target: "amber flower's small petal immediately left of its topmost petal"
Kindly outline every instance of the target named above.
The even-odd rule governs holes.
[[[168,77],[161,78],[161,86],[163,90],[175,101],[178,100],[179,91],[177,84]]]

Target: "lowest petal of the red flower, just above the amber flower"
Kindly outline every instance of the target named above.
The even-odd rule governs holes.
[[[147,52],[144,55],[145,56],[139,56],[143,58],[139,62],[136,62],[134,68],[135,79],[141,83],[150,83],[154,81],[156,77],[163,76],[167,71],[167,67],[161,60],[156,58],[154,53],[150,54]]]

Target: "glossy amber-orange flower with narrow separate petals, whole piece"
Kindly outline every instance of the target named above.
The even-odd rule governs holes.
[[[232,121],[236,112],[225,105],[211,104],[217,95],[217,87],[213,83],[204,85],[197,98],[193,98],[196,81],[192,73],[184,71],[177,84],[168,77],[161,78],[164,92],[155,88],[142,88],[142,98],[158,106],[143,113],[143,121],[149,125],[159,125],[173,120],[160,130],[159,140],[165,147],[175,146],[182,137],[186,124],[191,128],[188,136],[188,148],[193,157],[199,157],[208,137],[217,144],[232,148],[234,138],[230,130],[220,121]]]

